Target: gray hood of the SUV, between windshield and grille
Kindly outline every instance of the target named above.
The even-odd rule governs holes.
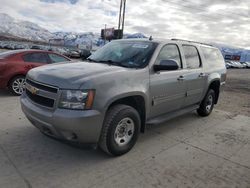
[[[89,79],[123,71],[126,68],[103,63],[59,63],[34,68],[28,72],[27,78],[61,89],[79,89]]]

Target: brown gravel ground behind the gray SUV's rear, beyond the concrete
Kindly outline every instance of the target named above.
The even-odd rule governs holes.
[[[250,116],[250,69],[229,69],[217,109]]]

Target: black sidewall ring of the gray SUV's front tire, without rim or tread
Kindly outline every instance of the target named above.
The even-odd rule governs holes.
[[[123,119],[129,117],[134,122],[134,134],[132,139],[124,146],[118,146],[115,142],[114,133],[118,123]],[[108,135],[107,135],[107,148],[109,152],[113,155],[122,155],[127,153],[136,143],[139,131],[140,131],[140,116],[138,112],[133,108],[127,108],[118,112],[115,118],[111,122],[111,126],[109,127]]]

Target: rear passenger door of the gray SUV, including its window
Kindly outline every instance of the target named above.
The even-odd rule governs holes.
[[[207,75],[203,70],[201,56],[196,46],[182,45],[182,51],[187,69],[187,73],[184,75],[187,85],[184,107],[188,107],[202,100]]]

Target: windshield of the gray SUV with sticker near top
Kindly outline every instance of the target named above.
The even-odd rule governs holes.
[[[97,50],[88,59],[129,68],[143,68],[154,53],[157,44],[147,41],[113,41]]]

